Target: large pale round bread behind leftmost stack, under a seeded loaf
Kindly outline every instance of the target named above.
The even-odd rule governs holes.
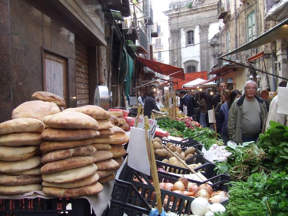
[[[27,101],[13,110],[12,119],[33,118],[42,120],[45,116],[56,113],[60,113],[60,110],[53,102]]]

